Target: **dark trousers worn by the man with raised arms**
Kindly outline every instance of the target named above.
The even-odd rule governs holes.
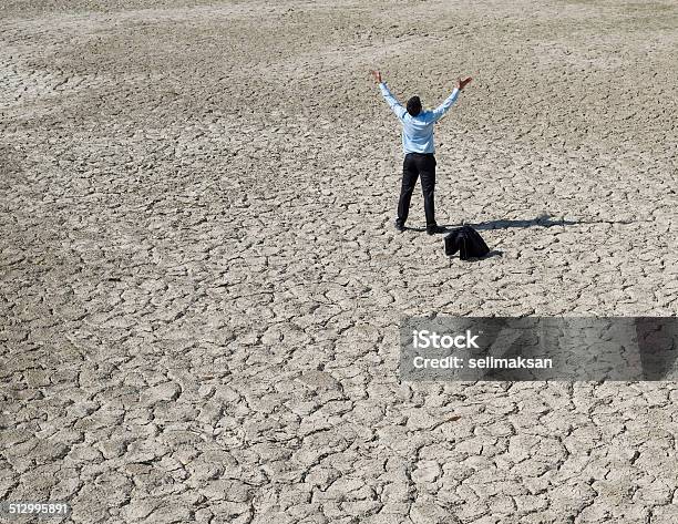
[[[432,153],[408,153],[402,163],[402,186],[398,202],[399,225],[404,226],[410,213],[410,201],[414,192],[417,178],[421,176],[421,192],[424,197],[424,213],[427,227],[435,225],[435,207],[433,193],[435,192],[435,156]]]

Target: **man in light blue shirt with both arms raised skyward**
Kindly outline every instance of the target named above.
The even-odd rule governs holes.
[[[384,100],[396,113],[402,124],[402,150],[405,154],[402,164],[402,187],[400,189],[400,201],[398,202],[398,218],[396,229],[404,230],[404,224],[410,212],[410,201],[417,184],[417,178],[421,176],[421,191],[424,197],[424,213],[427,215],[427,233],[444,233],[445,229],[435,223],[435,209],[433,205],[433,193],[435,191],[435,146],[433,144],[433,124],[438,122],[452,104],[456,101],[459,93],[471,82],[459,79],[456,89],[442,104],[433,111],[422,111],[419,96],[408,100],[407,110],[391,94],[386,82],[381,81],[379,71],[371,71],[372,76]]]

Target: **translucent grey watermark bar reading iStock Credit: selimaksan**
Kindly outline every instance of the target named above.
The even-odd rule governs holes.
[[[400,376],[421,380],[677,380],[676,317],[408,317]]]

